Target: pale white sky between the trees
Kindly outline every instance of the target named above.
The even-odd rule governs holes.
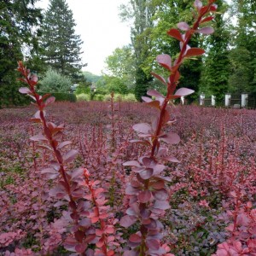
[[[128,0],[66,0],[73,11],[76,34],[84,41],[82,59],[88,63],[83,71],[101,75],[104,61],[113,50],[131,44],[130,27],[119,19],[119,5]],[[41,0],[37,6],[47,9],[49,0]]]

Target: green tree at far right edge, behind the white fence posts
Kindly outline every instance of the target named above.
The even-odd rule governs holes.
[[[230,51],[230,88],[236,93],[253,93],[256,98],[256,2],[233,0],[231,6],[237,22]]]

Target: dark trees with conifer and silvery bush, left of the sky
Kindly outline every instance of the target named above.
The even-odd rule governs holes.
[[[39,90],[67,92],[75,83],[85,83],[81,68],[79,35],[73,13],[65,0],[50,0],[43,12],[37,0],[1,1],[0,11],[0,107],[20,105],[17,61],[25,61],[41,81]]]

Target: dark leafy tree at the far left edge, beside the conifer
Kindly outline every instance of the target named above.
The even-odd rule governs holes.
[[[15,69],[17,61],[30,60],[38,49],[42,15],[34,3],[35,0],[0,2],[0,107],[22,103]]]

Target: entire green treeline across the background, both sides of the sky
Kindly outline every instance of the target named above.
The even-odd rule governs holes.
[[[151,75],[152,71],[165,75],[155,65],[155,57],[177,54],[177,40],[166,32],[179,20],[190,24],[194,4],[193,0],[127,0],[119,13],[131,25],[131,44],[115,49],[106,59],[106,73],[91,79],[93,75],[81,72],[86,66],[81,60],[83,42],[74,32],[76,24],[66,0],[50,0],[45,12],[36,8],[36,2],[0,3],[0,107],[23,101],[15,71],[19,60],[38,73],[39,89],[43,91],[63,92],[71,84],[79,84],[78,91],[88,93],[93,83],[98,93],[135,93],[137,100],[149,88],[165,93],[166,88]],[[219,14],[212,22],[215,32],[207,39],[198,34],[190,44],[203,46],[207,54],[186,60],[181,67],[178,86],[195,90],[190,102],[201,92],[216,96],[217,102],[223,101],[225,92],[256,95],[256,3],[217,0],[216,4]]]

